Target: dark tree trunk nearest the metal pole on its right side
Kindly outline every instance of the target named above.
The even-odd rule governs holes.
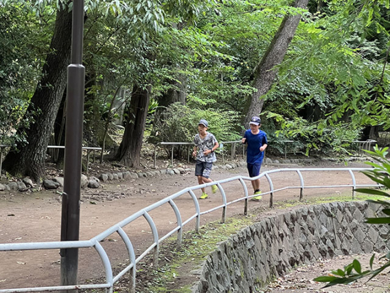
[[[138,85],[133,87],[124,135],[115,155],[117,161],[129,167],[139,166],[146,115],[148,115],[150,102],[150,90],[150,86],[146,89]]]

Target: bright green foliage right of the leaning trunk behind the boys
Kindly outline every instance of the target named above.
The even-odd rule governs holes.
[[[279,134],[301,136],[306,153],[347,151],[364,127],[390,127],[386,1],[323,4],[303,16],[277,83],[264,97]]]

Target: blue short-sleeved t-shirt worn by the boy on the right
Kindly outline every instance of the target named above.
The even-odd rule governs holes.
[[[248,129],[244,133],[244,138],[246,138],[245,143],[248,144],[248,149],[246,149],[246,162],[248,164],[261,164],[264,158],[264,151],[260,151],[260,147],[268,144],[266,133],[260,130],[259,133],[253,134],[251,129]]]

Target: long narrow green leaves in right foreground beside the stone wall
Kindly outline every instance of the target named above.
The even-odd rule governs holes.
[[[385,149],[378,149],[378,146],[374,147],[374,151],[366,151],[371,155],[371,158],[376,160],[377,162],[367,162],[370,166],[374,167],[373,169],[370,169],[369,171],[363,171],[367,177],[371,178],[374,182],[377,182],[378,184],[381,184],[387,190],[390,189],[390,160],[386,158],[386,155],[388,154],[387,150],[389,148]],[[390,193],[387,193],[385,191],[375,190],[375,189],[367,189],[367,188],[358,188],[356,191],[360,193],[366,193],[369,195],[380,195],[385,197],[390,197]],[[384,201],[384,200],[372,200],[368,199],[367,202],[372,202],[374,204],[380,204],[383,206],[382,209],[382,216],[381,217],[372,217],[367,218],[366,223],[367,224],[384,224],[389,225],[390,224],[390,202]],[[360,262],[357,259],[354,259],[352,263],[349,263],[349,265],[346,265],[344,269],[338,269],[333,270],[332,274],[333,276],[319,276],[314,281],[327,283],[325,287],[330,287],[332,285],[337,284],[348,284],[352,283],[358,279],[361,279],[365,276],[369,276],[369,280],[373,279],[375,276],[380,274],[383,270],[390,267],[390,251],[387,252],[384,256],[380,257],[380,259],[387,259],[387,262],[380,266],[380,268],[373,269],[374,265],[374,259],[375,254],[372,255],[370,261],[369,261],[369,267],[370,270],[362,271]]]

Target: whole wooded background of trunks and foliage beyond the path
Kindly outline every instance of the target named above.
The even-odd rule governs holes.
[[[40,180],[47,145],[65,144],[71,9],[0,0],[11,175]],[[145,131],[154,144],[191,142],[200,118],[228,141],[260,116],[273,151],[295,140],[307,155],[390,127],[389,0],[89,0],[84,10],[84,145],[126,166],[139,166]]]

